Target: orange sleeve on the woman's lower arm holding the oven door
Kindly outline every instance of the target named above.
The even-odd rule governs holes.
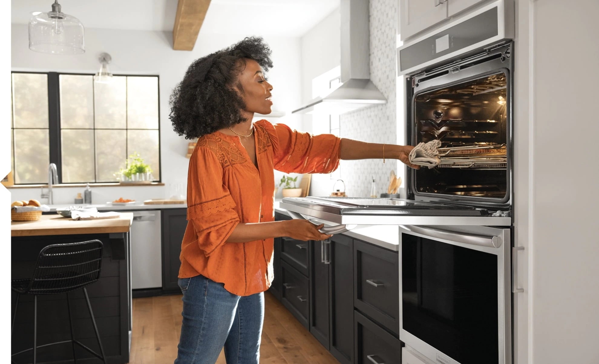
[[[210,148],[196,147],[187,175],[187,220],[193,223],[199,248],[210,256],[240,222],[235,201],[223,184],[223,168]]]

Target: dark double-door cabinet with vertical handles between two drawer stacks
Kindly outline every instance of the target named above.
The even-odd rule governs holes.
[[[353,363],[353,241],[334,235],[311,253],[310,332],[339,362]]]

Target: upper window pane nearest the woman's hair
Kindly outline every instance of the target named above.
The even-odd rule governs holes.
[[[127,77],[127,128],[158,129],[158,77]]]

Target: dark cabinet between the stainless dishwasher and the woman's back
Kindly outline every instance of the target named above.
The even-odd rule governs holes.
[[[162,210],[162,290],[179,292],[177,281],[181,261],[181,241],[187,227],[186,208]]]

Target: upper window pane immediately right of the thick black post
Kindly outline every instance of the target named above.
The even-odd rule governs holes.
[[[91,75],[59,75],[60,127],[93,128],[93,77]]]

